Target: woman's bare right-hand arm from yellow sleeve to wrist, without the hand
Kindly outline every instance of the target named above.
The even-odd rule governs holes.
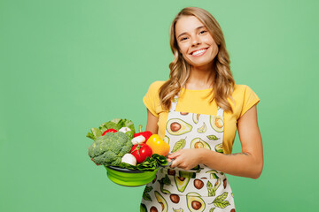
[[[256,106],[238,119],[237,129],[242,152],[230,155],[206,152],[203,155],[203,163],[231,175],[259,178],[263,166],[263,153]]]

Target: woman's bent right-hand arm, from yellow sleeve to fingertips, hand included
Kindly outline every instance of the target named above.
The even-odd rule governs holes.
[[[169,158],[175,158],[172,167],[191,169],[198,163],[203,163],[214,170],[241,176],[259,178],[263,166],[261,133],[257,122],[257,109],[253,106],[237,121],[242,152],[224,155],[208,149],[183,149]]]

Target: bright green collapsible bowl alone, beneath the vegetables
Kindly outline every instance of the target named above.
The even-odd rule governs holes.
[[[121,186],[144,186],[150,183],[156,176],[156,170],[128,170],[116,166],[105,166],[107,177]]]

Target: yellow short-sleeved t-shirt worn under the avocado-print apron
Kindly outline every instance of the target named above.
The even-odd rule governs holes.
[[[155,81],[149,87],[148,92],[143,98],[143,102],[148,110],[152,112],[155,117],[159,117],[159,137],[164,138],[165,126],[167,123],[168,111],[163,110],[159,103],[159,87],[164,84],[165,81]],[[178,98],[176,111],[199,113],[207,115],[217,114],[216,102],[209,103],[210,96],[206,96],[213,88],[204,90],[190,90],[183,88]],[[235,140],[237,131],[237,120],[243,116],[247,110],[253,107],[253,105],[260,102],[258,96],[253,90],[245,85],[235,85],[232,97],[235,100],[234,103],[229,100],[233,109],[233,113],[224,112],[224,134],[222,140],[223,153],[230,154],[232,146]]]

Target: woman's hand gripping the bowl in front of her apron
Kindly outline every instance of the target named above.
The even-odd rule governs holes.
[[[175,159],[171,168],[182,168],[183,170],[191,170],[201,161],[201,148],[185,148],[168,155],[168,159]]]

